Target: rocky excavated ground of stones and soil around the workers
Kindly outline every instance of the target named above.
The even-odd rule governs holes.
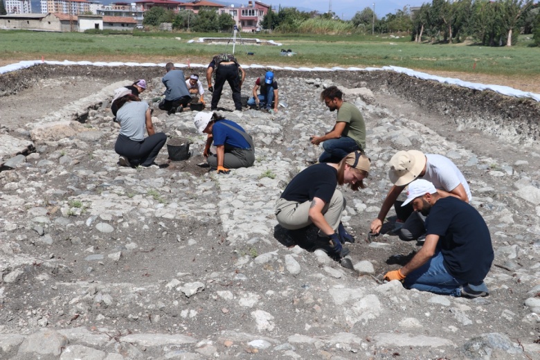
[[[228,112],[230,91],[219,104],[253,134],[253,168],[201,168],[195,112],[159,109],[156,129],[189,138],[191,158],[169,162],[163,148],[159,169],[120,168],[112,90],[146,78],[156,108],[160,72],[0,77],[0,359],[540,359],[536,103],[388,73],[282,71],[278,113]],[[273,215],[321,153],[309,136],[334,123],[318,101],[328,84],[368,127],[368,188],[343,190],[354,271],[287,249]],[[469,180],[496,253],[487,298],[380,282],[419,249],[393,235],[393,213],[366,236],[386,163],[407,149],[448,156]]]

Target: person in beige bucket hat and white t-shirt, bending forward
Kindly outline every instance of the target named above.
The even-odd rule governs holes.
[[[411,181],[422,178],[431,181],[442,197],[457,197],[469,202],[472,199],[471,190],[465,177],[456,164],[445,156],[425,154],[417,150],[399,151],[388,163],[388,177],[394,186],[388,191],[381,206],[377,219],[370,225],[372,233],[379,233],[390,207],[395,206],[399,219],[405,221],[399,229],[399,239],[403,241],[417,240],[426,233],[424,222],[426,217],[413,210],[412,206],[402,208],[402,201],[396,201],[405,186]]]

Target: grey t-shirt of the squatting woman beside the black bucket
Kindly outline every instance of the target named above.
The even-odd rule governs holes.
[[[127,136],[133,141],[143,141],[147,109],[148,104],[144,101],[126,102],[120,107],[116,113],[116,120],[120,123],[120,135]]]

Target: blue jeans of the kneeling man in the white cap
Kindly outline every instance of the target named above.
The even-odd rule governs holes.
[[[407,289],[429,291],[435,294],[461,296],[461,285],[467,284],[448,273],[442,264],[442,253],[436,252],[422,267],[408,274],[403,285]]]

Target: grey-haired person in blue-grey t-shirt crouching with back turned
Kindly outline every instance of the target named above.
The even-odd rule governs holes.
[[[165,71],[167,73],[161,79],[166,88],[165,99],[159,102],[158,107],[161,110],[166,110],[169,115],[182,112],[183,107],[191,101],[190,92],[186,86],[186,78],[184,78],[183,71],[174,68],[172,62],[165,65]]]

